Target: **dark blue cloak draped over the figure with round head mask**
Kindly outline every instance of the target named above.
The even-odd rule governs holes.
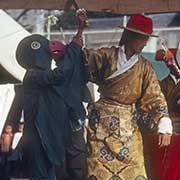
[[[83,64],[81,47],[72,42],[61,68],[49,72],[31,69],[24,77],[25,145],[41,142],[53,164],[65,159],[71,113],[80,119],[86,115],[82,104],[86,83]]]

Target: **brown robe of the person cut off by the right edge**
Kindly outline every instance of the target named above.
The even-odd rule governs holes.
[[[180,100],[180,82],[175,84],[172,77],[168,75],[160,82],[160,85],[168,104],[169,116],[173,121],[173,130],[180,133],[180,105],[178,104]]]

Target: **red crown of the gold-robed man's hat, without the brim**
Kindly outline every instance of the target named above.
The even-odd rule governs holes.
[[[147,34],[151,34],[153,31],[152,19],[142,15],[132,15],[127,27]]]

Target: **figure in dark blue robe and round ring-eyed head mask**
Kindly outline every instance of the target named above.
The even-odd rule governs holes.
[[[49,41],[43,36],[28,36],[17,47],[17,61],[27,69],[23,80],[22,141],[28,154],[31,180],[54,180],[54,167],[64,163],[65,147],[73,142],[71,129],[82,134],[86,116],[82,91],[86,82],[81,71],[81,47],[81,38],[76,35],[67,48],[62,67],[54,70],[50,68]],[[85,154],[85,143],[81,140],[83,148],[79,151]],[[84,180],[84,171],[82,173],[83,177],[76,177],[76,173],[71,172],[74,180]]]

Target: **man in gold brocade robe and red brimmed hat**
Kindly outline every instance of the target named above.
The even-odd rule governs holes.
[[[90,81],[100,93],[89,106],[88,180],[147,179],[137,124],[158,128],[159,147],[170,143],[167,104],[151,64],[141,56],[153,36],[152,20],[133,15],[123,28],[119,47],[86,50]]]

